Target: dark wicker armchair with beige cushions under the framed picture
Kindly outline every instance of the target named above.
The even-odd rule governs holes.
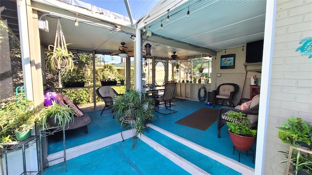
[[[235,106],[233,104],[234,94],[238,91],[238,85],[234,83],[223,83],[218,86],[216,90],[213,90],[213,105],[221,102],[221,105],[227,104],[229,106]]]

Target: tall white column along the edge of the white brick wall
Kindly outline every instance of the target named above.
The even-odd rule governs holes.
[[[267,140],[267,123],[269,113],[271,70],[275,31],[276,0],[267,0],[264,29],[264,46],[262,59],[261,89],[257,130],[257,149],[255,153],[255,175],[264,174],[265,146]]]

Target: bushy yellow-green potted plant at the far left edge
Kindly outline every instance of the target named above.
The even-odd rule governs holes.
[[[31,129],[37,122],[33,101],[27,100],[25,93],[1,104],[0,138],[1,145],[13,140],[23,141],[31,136]]]

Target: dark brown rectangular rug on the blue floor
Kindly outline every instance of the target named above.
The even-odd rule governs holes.
[[[218,109],[203,107],[175,123],[206,131],[218,118]]]

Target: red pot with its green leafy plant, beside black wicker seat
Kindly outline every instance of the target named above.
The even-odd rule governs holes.
[[[252,129],[250,119],[241,112],[228,113],[232,122],[227,122],[231,141],[235,148],[241,151],[248,151],[254,144],[256,130]]]

